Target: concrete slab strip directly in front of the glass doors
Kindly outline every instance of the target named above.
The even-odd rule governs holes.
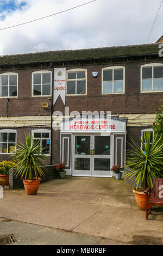
[[[123,180],[97,177],[66,176],[66,179],[55,179],[41,183],[39,190],[48,192],[112,194],[120,196],[130,196],[132,194]]]

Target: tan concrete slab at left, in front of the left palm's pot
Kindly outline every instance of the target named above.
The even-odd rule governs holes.
[[[52,228],[71,230],[99,211],[99,206],[54,197],[4,192],[0,216]]]

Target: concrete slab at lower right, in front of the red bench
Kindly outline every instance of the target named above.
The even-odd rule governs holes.
[[[134,243],[134,237],[140,235],[152,236],[163,244],[163,215],[153,214],[149,218],[151,221],[145,220],[145,211],[108,206],[73,231],[125,243]]]

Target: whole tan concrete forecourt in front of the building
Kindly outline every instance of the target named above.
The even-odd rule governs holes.
[[[104,244],[162,244],[163,215],[156,214],[163,212],[146,221],[123,181],[67,177],[41,184],[35,196],[5,190],[0,203],[0,217],[101,237]]]

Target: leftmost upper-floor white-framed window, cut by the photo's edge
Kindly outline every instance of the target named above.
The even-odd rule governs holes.
[[[0,74],[0,97],[17,97],[17,80],[17,73]]]

